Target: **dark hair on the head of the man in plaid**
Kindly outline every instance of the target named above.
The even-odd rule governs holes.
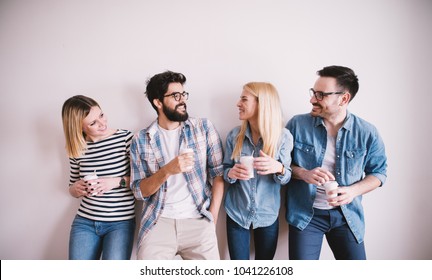
[[[151,77],[147,81],[146,95],[150,104],[157,110],[157,107],[153,104],[153,100],[163,100],[165,93],[168,91],[170,83],[180,83],[184,85],[186,83],[186,77],[182,73],[176,73],[172,71],[165,71]]]

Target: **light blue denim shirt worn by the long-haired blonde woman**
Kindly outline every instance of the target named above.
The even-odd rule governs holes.
[[[228,216],[245,229],[266,227],[272,225],[278,215],[280,207],[281,185],[288,183],[291,178],[291,150],[293,139],[287,129],[283,129],[279,148],[275,159],[285,167],[284,175],[258,175],[254,171],[254,178],[249,180],[237,180],[228,177],[228,172],[234,166],[235,161],[231,155],[235,146],[240,126],[228,133],[224,155],[224,179],[229,183],[225,196],[225,211]],[[248,128],[243,141],[242,155],[259,155],[263,148],[262,139],[255,146]]]

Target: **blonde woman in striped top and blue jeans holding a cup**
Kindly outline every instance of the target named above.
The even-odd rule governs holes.
[[[130,259],[135,199],[129,188],[132,132],[108,127],[99,104],[83,95],[65,101],[63,130],[69,193],[81,199],[72,223],[69,259]],[[97,179],[84,180],[86,175]]]

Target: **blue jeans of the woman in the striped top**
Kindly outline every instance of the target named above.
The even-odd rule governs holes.
[[[70,260],[129,260],[135,219],[98,222],[75,216],[69,238]]]

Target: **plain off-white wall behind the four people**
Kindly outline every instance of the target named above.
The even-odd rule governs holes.
[[[190,115],[225,141],[243,84],[273,83],[288,120],[310,111],[315,73],[333,64],[354,69],[350,111],[386,143],[387,182],[363,198],[368,258],[431,259],[431,27],[430,0],[1,0],[0,259],[67,258],[79,204],[67,191],[68,97],[95,98],[111,127],[136,132],[156,117],[146,79],[182,72]],[[287,259],[280,225],[276,258]],[[217,233],[227,259],[223,209]],[[333,259],[326,242],[321,257]]]

